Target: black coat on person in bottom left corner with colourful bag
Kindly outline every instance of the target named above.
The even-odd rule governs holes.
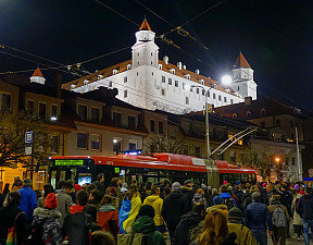
[[[22,212],[20,208],[0,208],[0,241],[7,241],[8,229],[14,225],[16,216]],[[21,213],[15,222],[17,244],[24,244],[27,240],[27,221],[25,213]],[[1,244],[0,242],[0,244]],[[5,244],[5,243],[4,243]]]

